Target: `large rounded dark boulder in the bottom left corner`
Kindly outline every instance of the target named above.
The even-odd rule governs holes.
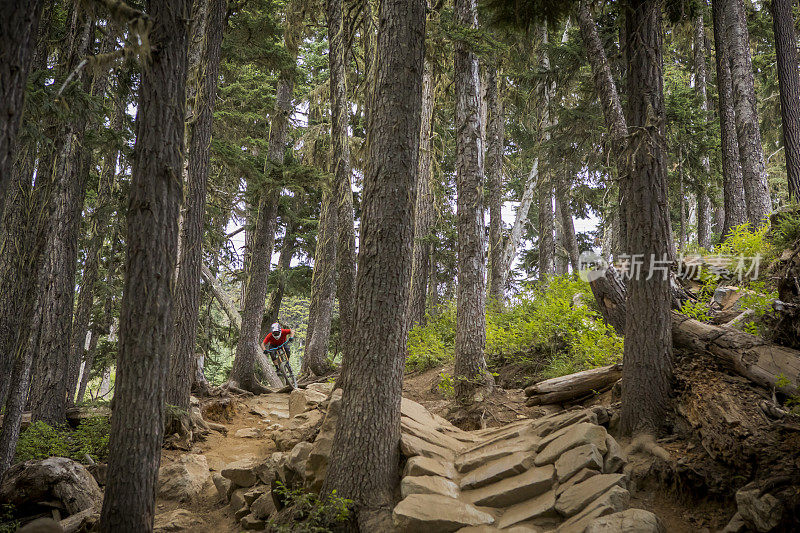
[[[26,461],[12,466],[0,484],[0,501],[19,510],[39,502],[59,502],[68,514],[100,508],[103,493],[80,463],[65,457]]]

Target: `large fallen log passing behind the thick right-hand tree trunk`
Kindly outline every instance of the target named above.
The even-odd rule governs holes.
[[[613,268],[589,282],[606,321],[625,331],[626,290]],[[724,366],[771,390],[795,396],[800,389],[800,351],[732,328],[714,326],[672,312],[676,348],[709,353]]]

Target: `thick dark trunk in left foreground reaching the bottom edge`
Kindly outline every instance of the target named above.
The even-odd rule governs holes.
[[[189,0],[149,1],[128,209],[108,479],[99,529],[153,530],[172,333]]]

